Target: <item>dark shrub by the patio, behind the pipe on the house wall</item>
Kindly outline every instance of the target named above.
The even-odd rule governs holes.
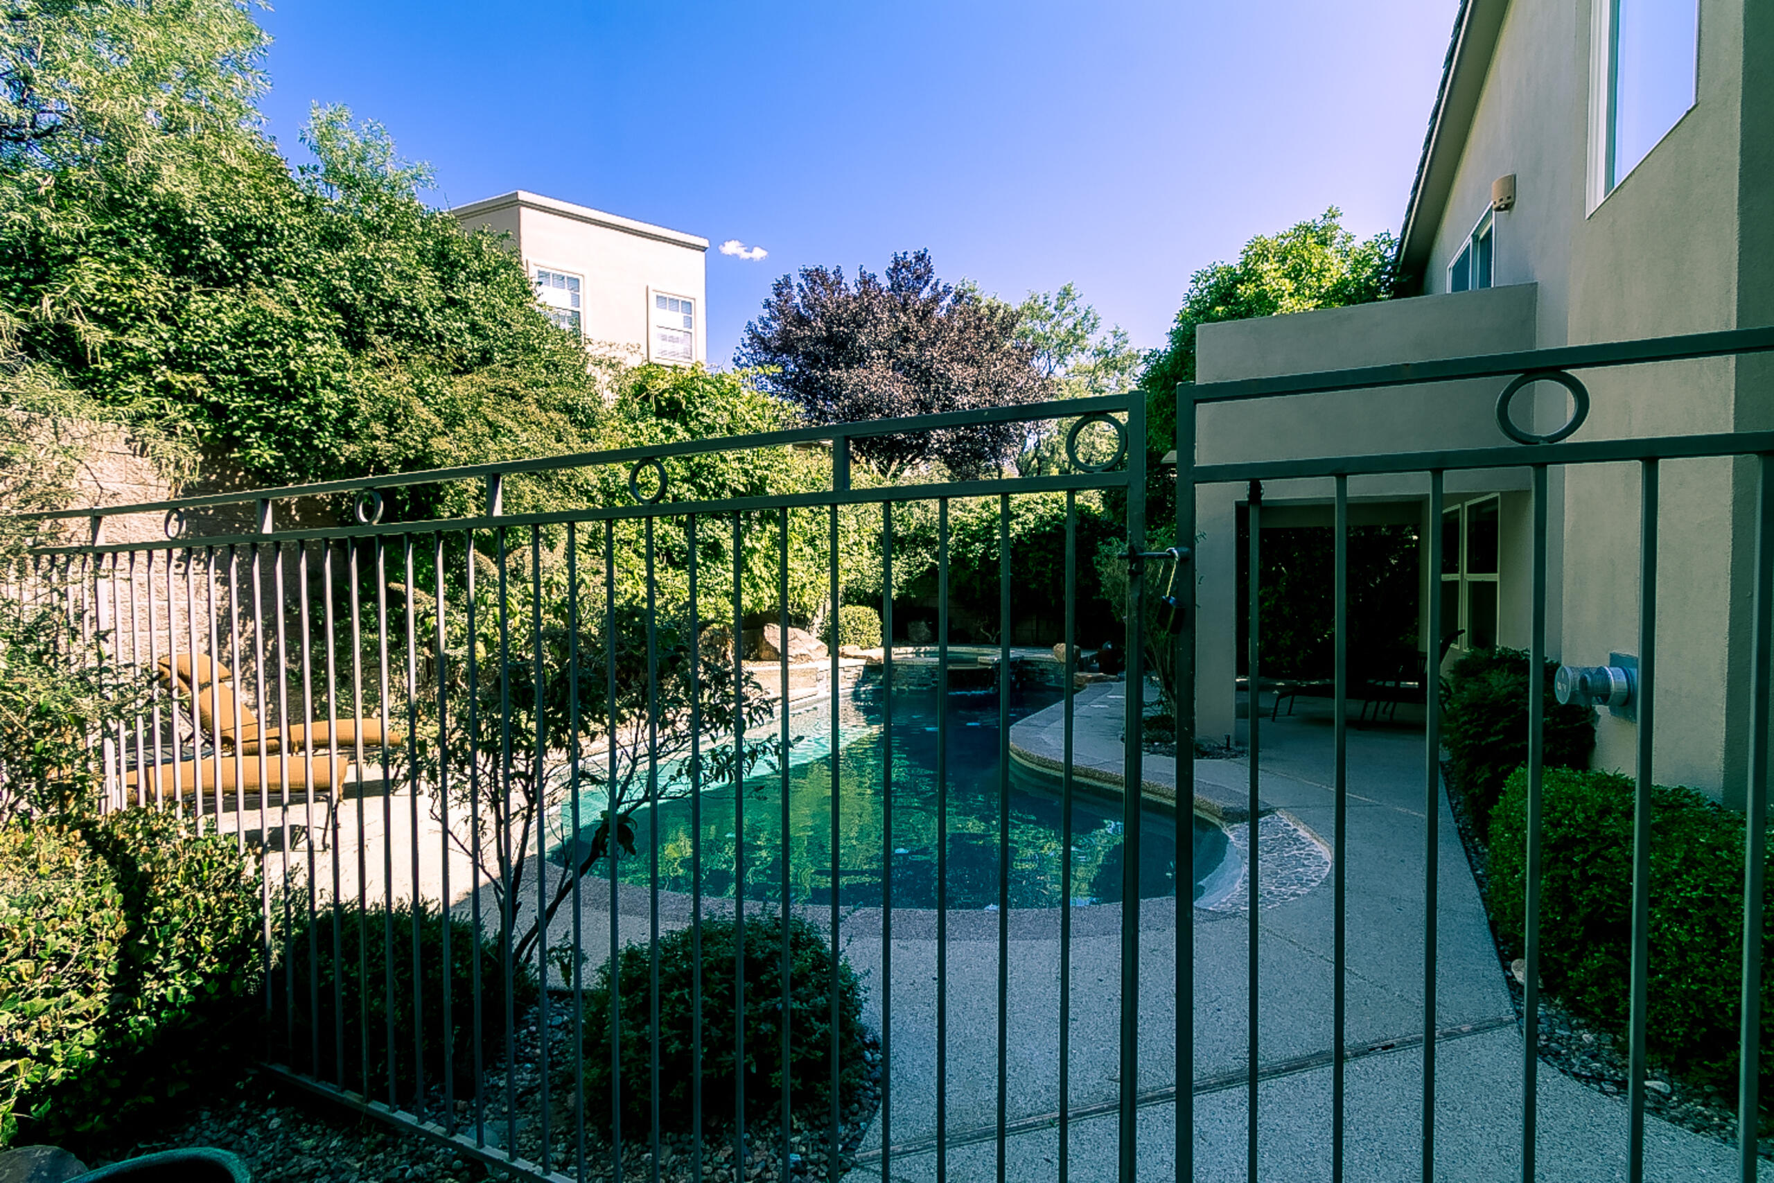
[[[1545,663],[1543,747],[1547,768],[1582,768],[1595,747],[1595,709],[1561,706],[1552,697],[1558,662]],[[1455,786],[1472,811],[1480,835],[1510,773],[1527,763],[1527,654],[1474,649],[1442,681],[1442,745],[1453,759]]]

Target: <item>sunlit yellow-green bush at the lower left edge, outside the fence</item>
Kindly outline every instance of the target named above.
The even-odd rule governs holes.
[[[234,839],[147,811],[0,827],[0,1146],[243,1071],[259,933]]]

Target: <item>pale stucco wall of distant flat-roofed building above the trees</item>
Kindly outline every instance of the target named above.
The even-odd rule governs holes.
[[[708,241],[534,193],[509,193],[454,211],[463,225],[504,232],[536,268],[578,275],[585,341],[628,360],[648,356],[655,291],[695,302],[695,360],[708,362]]]

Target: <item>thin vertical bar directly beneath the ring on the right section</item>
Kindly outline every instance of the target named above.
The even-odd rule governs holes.
[[[1522,984],[1522,1183],[1535,1183],[1540,1121],[1540,787],[1545,770],[1547,660],[1547,466],[1533,466],[1533,637],[1527,654],[1527,901]],[[1440,529],[1440,523],[1435,523]],[[1440,578],[1437,575],[1435,578]]]

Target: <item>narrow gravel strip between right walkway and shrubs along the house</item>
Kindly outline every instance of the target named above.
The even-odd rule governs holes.
[[[1442,763],[1442,782],[1449,786],[1448,805],[1453,811],[1455,827],[1460,830],[1465,857],[1472,864],[1472,878],[1478,880],[1480,897],[1488,899],[1488,851],[1478,839],[1465,798],[1453,787],[1453,768],[1446,761]],[[1526,1023],[1527,1007],[1520,981],[1522,967],[1520,963],[1504,960],[1501,949],[1497,956],[1503,977],[1510,986],[1510,1000],[1515,1006],[1515,1022],[1519,1025]],[[1572,1015],[1545,995],[1540,997],[1540,1059],[1577,1084],[1588,1085],[1605,1096],[1627,1096],[1629,1059],[1625,1041]],[[1735,1098],[1710,1089],[1698,1089],[1655,1068],[1646,1073],[1644,1080],[1644,1112],[1684,1130],[1692,1130],[1694,1133],[1714,1137],[1731,1146],[1737,1144]],[[1763,1137],[1756,1151],[1762,1158],[1774,1160],[1774,1139]]]

